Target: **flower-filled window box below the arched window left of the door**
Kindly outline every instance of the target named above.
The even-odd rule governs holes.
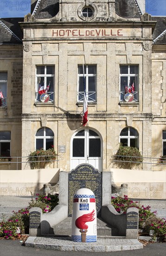
[[[54,146],[44,150],[43,148],[37,149],[29,154],[28,162],[31,169],[45,168],[46,165],[51,164],[57,159],[57,153]]]

